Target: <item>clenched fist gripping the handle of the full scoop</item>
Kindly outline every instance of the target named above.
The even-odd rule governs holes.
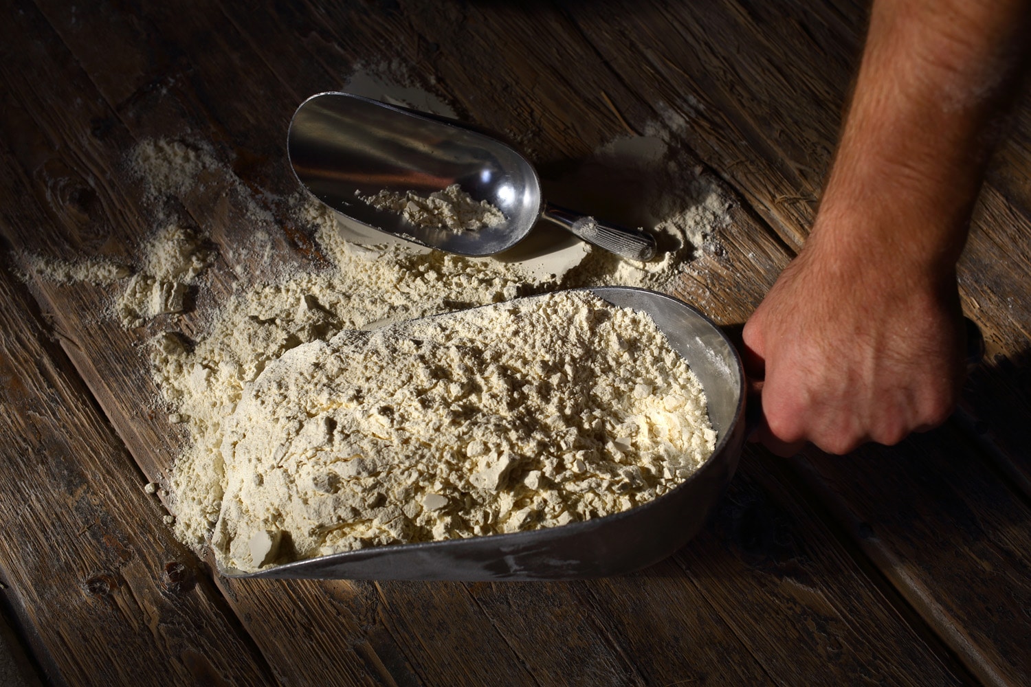
[[[955,407],[965,331],[954,272],[874,253],[810,241],[745,324],[745,369],[761,386],[754,439],[774,453],[896,444]]]

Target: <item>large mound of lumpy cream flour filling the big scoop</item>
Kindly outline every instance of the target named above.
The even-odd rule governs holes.
[[[297,346],[221,434],[211,545],[243,571],[617,513],[716,440],[655,323],[585,291]]]

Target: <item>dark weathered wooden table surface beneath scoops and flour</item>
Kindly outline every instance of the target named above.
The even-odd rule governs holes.
[[[734,195],[677,294],[740,324],[812,219],[867,7],[851,0],[322,3],[11,0],[0,14],[0,600],[30,683],[1031,684],[1031,106],[960,271],[985,362],[942,427],[893,448],[746,449],[712,522],[638,574],[564,583],[234,581],[142,485],[178,450],[110,289],[23,283],[14,254],[126,256],[154,227],[124,164],[208,144],[180,211],[219,246],[241,198],[289,221],[286,125],[387,64],[545,173],[672,112]],[[545,174],[546,176],[546,174]],[[233,253],[211,288],[225,294]],[[190,322],[188,313],[184,321]]]

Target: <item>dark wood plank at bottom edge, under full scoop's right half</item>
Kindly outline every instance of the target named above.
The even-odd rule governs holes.
[[[667,685],[701,676],[712,684],[775,684],[668,560],[607,580],[478,583],[469,593],[535,666],[539,684]],[[541,609],[552,642],[536,627]]]

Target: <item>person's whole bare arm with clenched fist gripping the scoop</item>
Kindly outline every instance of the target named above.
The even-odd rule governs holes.
[[[772,450],[894,444],[949,416],[963,378],[956,262],[1029,5],[874,0],[812,232],[742,334]]]

